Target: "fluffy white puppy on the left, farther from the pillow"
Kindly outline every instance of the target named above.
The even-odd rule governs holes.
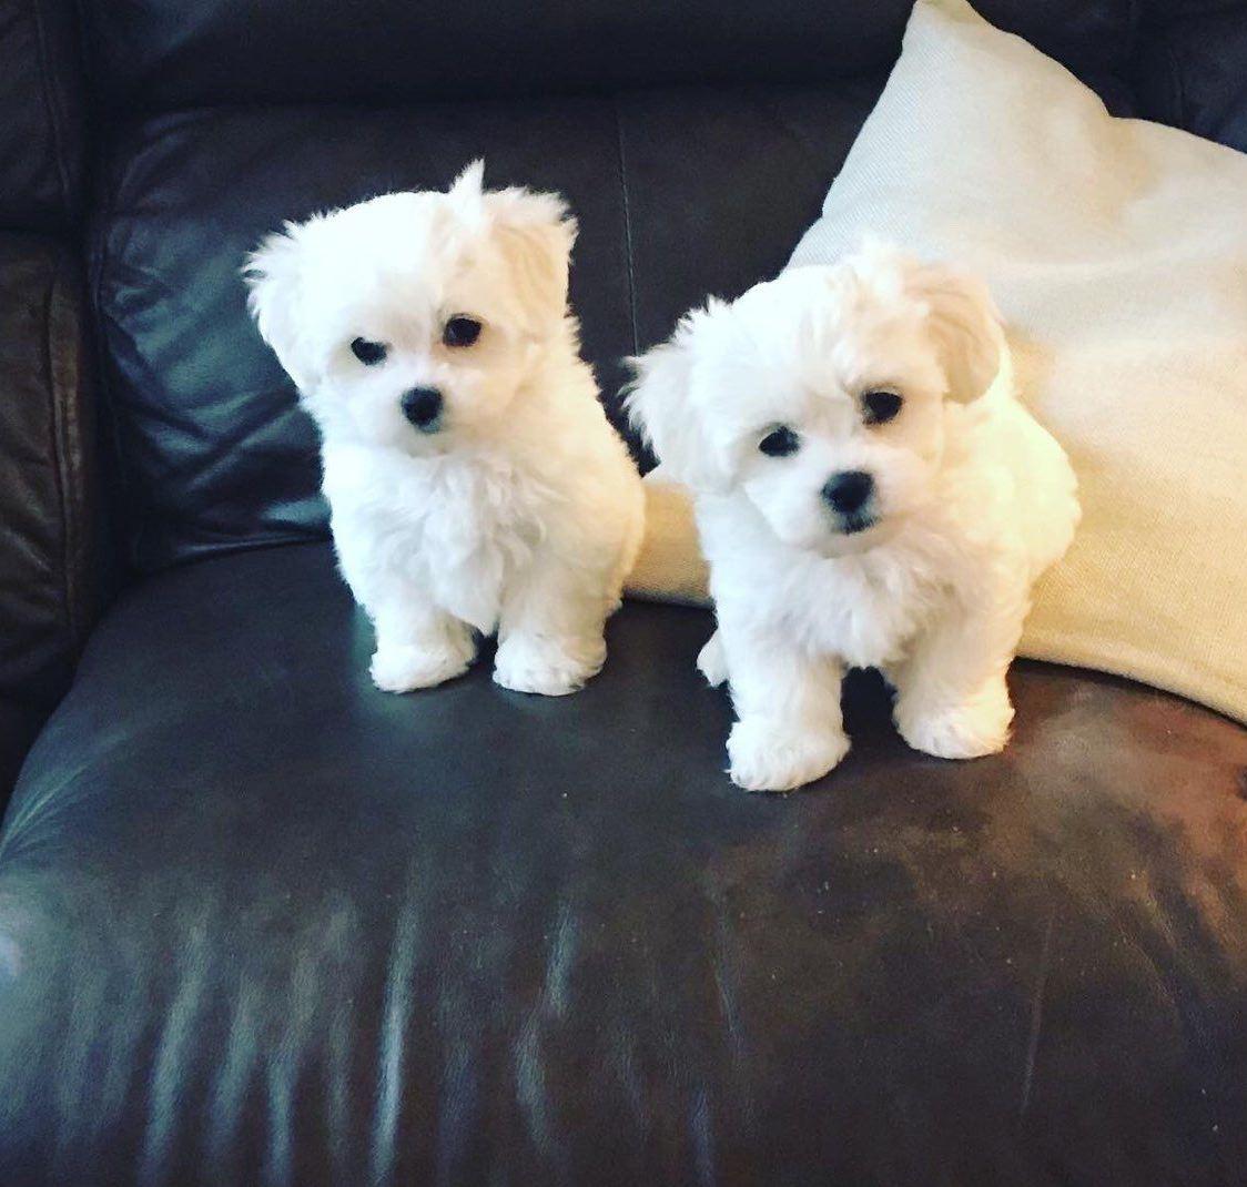
[[[643,501],[567,310],[575,222],[481,175],[287,224],[251,309],[320,429],[377,686],[450,680],[496,630],[498,683],[559,696],[602,666]]]

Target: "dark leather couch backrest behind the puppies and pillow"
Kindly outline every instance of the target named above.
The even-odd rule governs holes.
[[[975,2],[1121,115],[1150,113],[1142,45],[1245,20],[1243,0]],[[89,266],[118,519],[130,564],[153,571],[327,531],[314,431],[238,276],[282,219],[443,186],[478,155],[490,185],[562,191],[581,218],[585,355],[619,416],[621,357],[783,266],[912,0],[79,4],[108,132]],[[1168,57],[1155,69],[1176,77]],[[1205,110],[1202,81],[1182,84],[1177,116]]]

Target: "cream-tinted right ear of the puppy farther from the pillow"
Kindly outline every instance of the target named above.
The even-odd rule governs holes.
[[[493,228],[519,297],[520,323],[532,338],[547,338],[567,313],[567,273],[576,219],[556,193],[483,190],[484,162],[473,161],[450,187],[465,208],[478,203]]]

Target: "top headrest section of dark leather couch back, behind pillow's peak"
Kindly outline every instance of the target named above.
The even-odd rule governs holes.
[[[85,0],[105,94],[145,110],[395,102],[705,82],[812,84],[890,65],[912,0]],[[1075,69],[1129,60],[1131,0],[983,0]]]

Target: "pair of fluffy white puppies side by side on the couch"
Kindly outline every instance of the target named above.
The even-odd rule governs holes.
[[[605,660],[643,529],[638,476],[567,312],[562,201],[397,193],[251,257],[261,333],[317,420],[377,685],[463,672],[560,694]],[[985,288],[867,246],[690,313],[628,410],[695,494],[731,685],[731,776],[798,787],[848,749],[845,667],[883,668],[915,748],[1000,749],[1035,577],[1077,521],[1060,446],[1014,399]]]

